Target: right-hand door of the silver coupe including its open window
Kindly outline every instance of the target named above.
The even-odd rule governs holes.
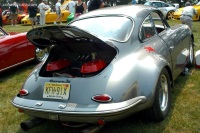
[[[171,53],[173,76],[177,77],[187,64],[188,38],[182,36],[184,31],[178,26],[171,28],[164,17],[160,17],[162,14],[152,13],[151,16],[155,20],[154,25],[158,36],[167,44],[168,51]]]

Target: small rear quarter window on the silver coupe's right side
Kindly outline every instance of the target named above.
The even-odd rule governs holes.
[[[154,29],[154,24],[152,22],[151,19],[151,15],[148,15],[140,28],[140,32],[139,32],[139,37],[142,41],[151,38],[152,36],[154,36],[156,34],[155,29]]]

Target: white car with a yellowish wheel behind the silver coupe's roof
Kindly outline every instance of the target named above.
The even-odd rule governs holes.
[[[176,10],[175,6],[167,4],[163,1],[147,1],[146,3],[144,3],[144,5],[149,5],[158,8],[166,17],[166,19],[172,19]]]

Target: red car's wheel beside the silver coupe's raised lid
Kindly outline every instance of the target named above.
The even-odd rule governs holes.
[[[48,48],[45,48],[45,49],[36,48],[34,61],[36,63],[40,63],[40,62],[44,61],[48,55],[49,55]]]

